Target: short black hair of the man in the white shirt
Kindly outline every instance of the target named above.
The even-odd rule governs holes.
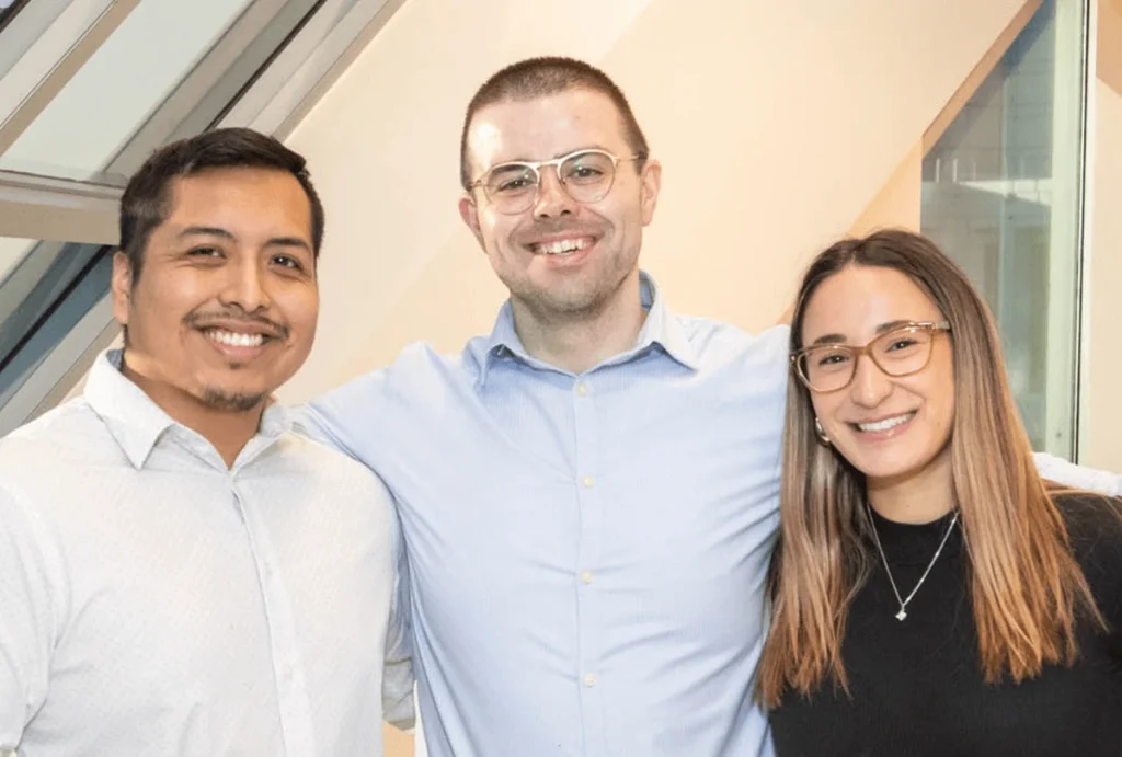
[[[125,187],[120,250],[129,259],[134,283],[140,276],[151,232],[167,220],[172,182],[214,168],[272,168],[295,176],[312,206],[312,252],[319,258],[323,241],[323,204],[312,185],[304,157],[276,138],[252,129],[214,129],[156,150]]]

